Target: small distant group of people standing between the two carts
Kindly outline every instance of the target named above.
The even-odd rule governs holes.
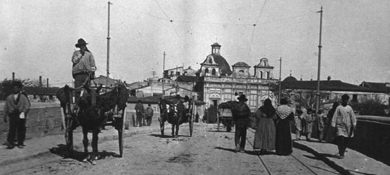
[[[154,110],[153,107],[151,107],[150,103],[147,105],[147,108],[145,110],[142,101],[138,100],[138,103],[136,104],[136,107],[134,107],[134,110],[136,110],[136,116],[137,116],[136,127],[151,125],[151,117],[154,114]]]

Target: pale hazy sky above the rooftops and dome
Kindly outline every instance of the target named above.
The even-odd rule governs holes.
[[[230,65],[254,66],[265,57],[274,79],[317,80],[321,6],[320,79],[390,82],[390,1],[110,2],[110,77],[127,83],[161,77],[163,68],[198,70],[216,42]],[[17,79],[71,84],[80,38],[89,43],[96,75],[106,76],[108,9],[108,1],[1,1],[0,79],[15,72]]]

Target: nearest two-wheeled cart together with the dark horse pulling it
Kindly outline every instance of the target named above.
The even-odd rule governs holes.
[[[77,88],[65,85],[57,92],[57,97],[62,107],[62,123],[65,129],[66,150],[68,156],[73,156],[73,130],[82,126],[84,139],[84,153],[88,154],[88,132],[93,132],[93,154],[97,154],[97,134],[100,128],[111,125],[118,130],[118,142],[120,157],[123,156],[123,134],[126,119],[126,103],[128,91],[124,85],[114,88],[106,88],[106,92],[100,94],[102,85],[98,88],[84,87],[80,101],[75,107],[73,99]]]

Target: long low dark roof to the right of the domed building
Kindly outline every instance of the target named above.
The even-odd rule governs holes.
[[[317,81],[282,81],[284,89],[317,90]],[[346,91],[346,92],[381,92],[359,85],[344,83],[340,80],[319,81],[319,90]]]

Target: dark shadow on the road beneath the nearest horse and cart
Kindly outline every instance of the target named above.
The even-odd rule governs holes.
[[[74,160],[76,161],[83,161],[83,159],[85,158],[84,156],[84,152],[80,152],[78,150],[73,150],[73,156],[72,157],[69,157],[68,156],[68,151],[66,150],[66,145],[64,144],[59,144],[57,145],[58,147],[52,147],[50,148],[50,152],[57,155],[57,156],[62,156],[63,158],[73,158]],[[92,152],[89,152],[89,154],[91,155]],[[106,152],[106,151],[102,151],[102,152],[97,152],[97,159],[104,159],[106,157],[117,157],[119,158],[120,155],[119,154],[116,154],[115,152]]]

